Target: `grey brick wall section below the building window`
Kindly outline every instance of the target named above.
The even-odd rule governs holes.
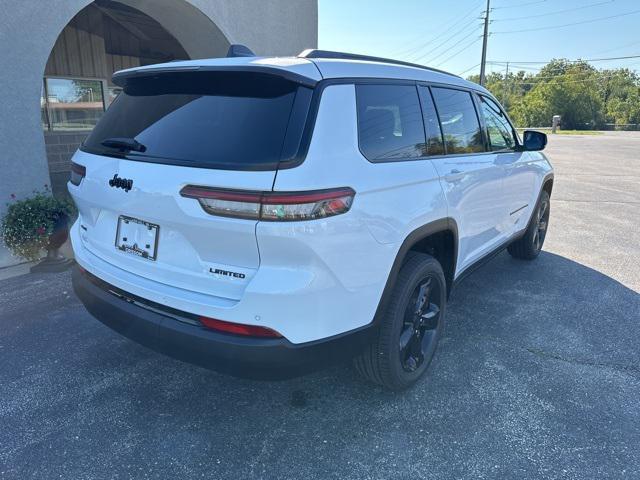
[[[88,132],[45,132],[44,142],[54,195],[66,195],[71,157],[87,135]]]

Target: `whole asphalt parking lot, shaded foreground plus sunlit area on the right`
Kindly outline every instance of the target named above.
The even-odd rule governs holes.
[[[464,280],[426,378],[218,375],[0,282],[0,478],[640,478],[640,133],[554,136],[540,258]]]

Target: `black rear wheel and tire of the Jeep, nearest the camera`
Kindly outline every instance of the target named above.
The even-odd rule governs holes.
[[[409,252],[383,307],[377,337],[354,360],[356,370],[390,390],[413,385],[427,370],[442,335],[446,290],[440,263]]]

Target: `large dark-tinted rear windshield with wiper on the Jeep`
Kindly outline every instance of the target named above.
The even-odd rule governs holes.
[[[147,162],[271,170],[297,155],[311,93],[262,73],[133,78],[82,149]],[[135,140],[142,147],[122,150],[113,142],[106,147],[108,139]]]

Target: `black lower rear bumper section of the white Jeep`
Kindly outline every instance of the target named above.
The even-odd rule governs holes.
[[[372,324],[325,340],[293,344],[284,338],[219,333],[131,303],[92,277],[76,267],[73,288],[96,319],[157,352],[234,376],[275,380],[303,375],[355,356],[375,334]]]

